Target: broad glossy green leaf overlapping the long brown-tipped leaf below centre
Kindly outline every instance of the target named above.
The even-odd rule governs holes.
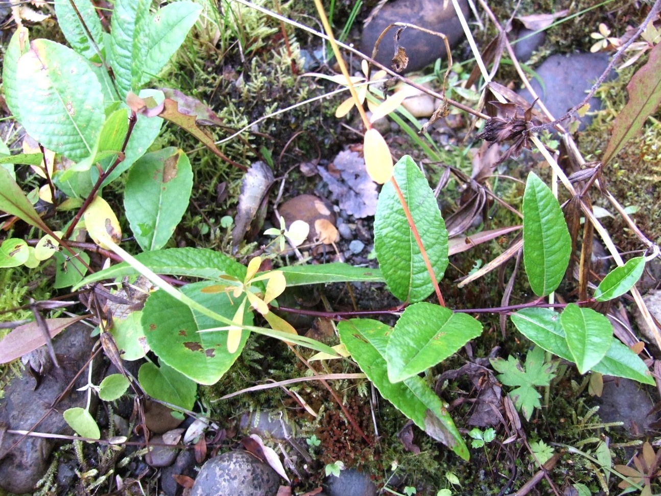
[[[420,302],[408,306],[391,333],[385,351],[390,382],[416,376],[455,354],[482,333],[467,313]]]

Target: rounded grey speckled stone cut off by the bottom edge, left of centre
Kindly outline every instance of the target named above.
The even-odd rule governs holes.
[[[190,496],[275,496],[280,476],[245,451],[230,451],[208,460]]]

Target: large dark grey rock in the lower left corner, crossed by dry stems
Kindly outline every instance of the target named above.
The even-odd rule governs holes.
[[[51,434],[73,434],[64,421],[62,411],[87,405],[87,392],[77,391],[87,384],[87,373],[81,374],[69,394],[38,425],[50,405],[64,392],[73,376],[85,366],[95,339],[90,337],[91,329],[82,323],[69,326],[56,337],[53,346],[61,369],[52,366],[48,354],[44,354],[44,375],[36,387],[36,382],[28,372],[22,378],[15,378],[5,388],[5,397],[0,400],[0,424],[10,430],[28,430]],[[98,370],[102,360],[95,360]],[[93,374],[97,380],[97,374]],[[93,395],[93,397],[96,397]],[[0,487],[11,493],[31,493],[34,485],[46,473],[49,456],[55,442],[48,438],[5,433],[0,444]],[[20,440],[18,446],[6,453]]]

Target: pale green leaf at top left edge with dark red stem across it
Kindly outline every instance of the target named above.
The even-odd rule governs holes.
[[[94,5],[90,0],[74,0],[74,3],[94,42],[96,42],[99,49],[102,48],[103,29]],[[55,2],[55,13],[58,16],[59,28],[62,30],[64,37],[67,38],[71,48],[87,59],[97,55],[85,27],[83,27],[78,15],[71,7],[71,2],[69,0]]]

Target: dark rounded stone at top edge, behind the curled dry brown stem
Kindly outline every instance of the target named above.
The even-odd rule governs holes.
[[[374,11],[371,20],[366,23],[360,51],[371,56],[377,38],[389,24],[393,22],[408,22],[421,28],[442,32],[447,36],[450,49],[463,40],[463,29],[451,2],[443,8],[444,2],[440,0],[395,0],[386,3],[378,11]],[[459,0],[459,6],[465,16],[468,15],[468,2]],[[395,54],[395,41],[393,37],[397,32],[393,26],[383,36],[379,44],[377,62],[390,67]],[[408,66],[405,72],[419,71],[438,58],[446,58],[446,46],[439,36],[427,34],[414,28],[406,28],[399,39],[399,44],[407,50]]]

